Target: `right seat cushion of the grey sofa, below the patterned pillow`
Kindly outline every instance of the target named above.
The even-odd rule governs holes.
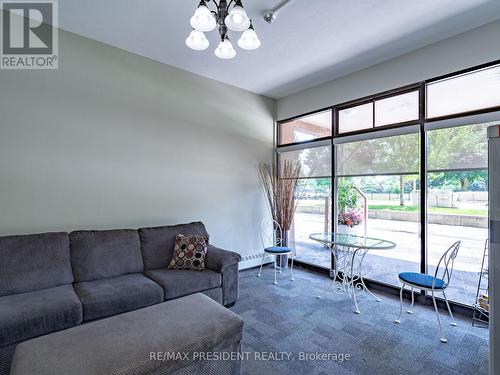
[[[144,274],[162,286],[165,300],[222,285],[221,274],[209,269],[201,272],[163,269],[146,271]]]

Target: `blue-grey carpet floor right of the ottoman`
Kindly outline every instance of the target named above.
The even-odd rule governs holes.
[[[245,321],[242,350],[249,352],[243,374],[487,374],[488,331],[472,327],[470,320],[456,317],[449,325],[442,313],[447,344],[439,342],[432,308],[415,306],[414,314],[403,313],[401,325],[394,323],[399,299],[377,293],[382,302],[361,295],[361,315],[352,312],[344,295],[329,292],[315,296],[329,279],[310,271],[295,270],[279,275],[273,285],[273,270],[265,267],[240,272],[240,299],[231,308]],[[406,311],[406,309],[404,310]],[[259,353],[286,352],[290,360],[260,360]],[[300,360],[300,352],[349,354],[343,362]],[[286,359],[287,355],[283,355]]]

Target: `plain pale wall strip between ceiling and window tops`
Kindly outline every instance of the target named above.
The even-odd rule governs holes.
[[[279,120],[500,59],[500,21],[278,100]]]

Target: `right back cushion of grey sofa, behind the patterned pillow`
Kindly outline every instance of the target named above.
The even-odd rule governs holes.
[[[172,259],[175,237],[178,234],[208,235],[205,225],[199,221],[139,229],[145,270],[167,268],[170,259]]]

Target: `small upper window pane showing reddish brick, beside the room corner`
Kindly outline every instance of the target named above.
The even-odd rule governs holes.
[[[332,135],[332,111],[304,116],[281,123],[279,126],[280,145],[329,137]]]

